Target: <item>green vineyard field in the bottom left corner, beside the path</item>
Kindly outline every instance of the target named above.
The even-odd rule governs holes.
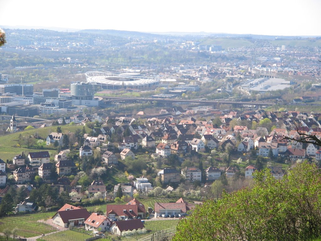
[[[41,234],[57,231],[56,228],[38,222],[38,220],[40,219],[51,218],[54,214],[55,212],[45,212],[25,215],[12,215],[9,217],[1,218],[0,233],[3,233],[5,229],[13,230],[13,228],[17,228],[18,236],[34,237]]]

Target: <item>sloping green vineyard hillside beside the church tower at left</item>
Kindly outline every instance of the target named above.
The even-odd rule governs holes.
[[[31,130],[25,130],[20,131],[17,133],[5,135],[0,137],[0,158],[2,160],[11,160],[15,155],[18,155],[19,153],[25,152],[36,152],[36,151],[49,151],[50,156],[56,154],[56,150],[46,148],[39,148],[39,147],[17,147],[18,146],[18,139],[19,135],[28,134],[34,137],[39,137],[42,139],[47,138],[48,134],[51,132],[55,132],[57,129],[56,126],[52,127],[45,127],[45,128],[39,128],[39,129],[31,129]],[[82,126],[61,126],[62,132],[64,134],[67,134],[70,132],[75,132],[76,129],[81,129]],[[86,127],[86,132],[89,133],[91,129]]]

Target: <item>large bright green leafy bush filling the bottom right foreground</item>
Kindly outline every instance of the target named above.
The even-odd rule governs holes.
[[[252,189],[223,192],[220,200],[197,205],[178,223],[172,240],[313,240],[321,228],[320,178],[317,166],[307,162],[289,170],[282,180],[269,169],[255,172]],[[219,190],[213,188],[216,182],[214,193]]]

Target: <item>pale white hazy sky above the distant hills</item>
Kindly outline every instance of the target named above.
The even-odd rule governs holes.
[[[321,0],[0,0],[0,28],[320,35]]]

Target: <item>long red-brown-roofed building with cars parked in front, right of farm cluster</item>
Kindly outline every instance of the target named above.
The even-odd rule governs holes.
[[[195,204],[189,204],[187,201],[184,201],[182,198],[178,199],[176,202],[155,202],[154,211],[155,217],[161,215],[176,215],[185,216],[188,215],[189,211],[195,208]]]

